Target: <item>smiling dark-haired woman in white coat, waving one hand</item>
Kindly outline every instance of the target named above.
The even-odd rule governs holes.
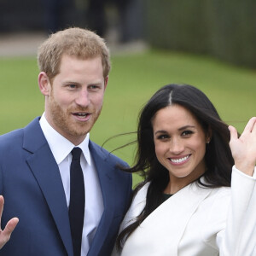
[[[113,255],[256,255],[256,118],[238,138],[201,90],[169,84],[143,108],[137,147],[127,172],[145,179]]]

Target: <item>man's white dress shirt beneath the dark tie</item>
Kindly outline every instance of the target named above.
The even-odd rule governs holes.
[[[40,125],[44,132],[49,148],[55,157],[55,161],[59,166],[63,188],[65,190],[67,206],[69,206],[70,197],[70,165],[72,161],[71,151],[76,147],[73,143],[62,137],[60,133],[51,127],[43,113],[40,119]],[[96,166],[90,156],[89,150],[89,133],[84,141],[77,147],[82,149],[81,167],[84,173],[84,191],[85,191],[85,207],[84,207],[84,228],[82,237],[81,255],[88,253],[90,243],[95,236],[97,226],[102,218],[103,199],[99,178],[96,172]]]

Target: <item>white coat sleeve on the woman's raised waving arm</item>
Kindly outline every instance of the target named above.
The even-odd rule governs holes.
[[[256,167],[254,168],[254,174]],[[233,166],[231,203],[224,230],[218,232],[220,256],[256,255],[256,177]]]

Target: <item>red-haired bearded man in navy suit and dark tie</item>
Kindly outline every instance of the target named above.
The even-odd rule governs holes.
[[[108,84],[108,48],[95,33],[69,28],[39,47],[38,66],[44,114],[0,137],[2,230],[10,218],[19,218],[0,254],[108,256],[131,195],[131,175],[119,170],[125,162],[89,139]],[[74,186],[73,148],[82,151],[82,178]],[[71,217],[76,186],[84,189],[77,193],[84,205],[77,203],[82,210]],[[73,228],[81,212],[83,223]],[[15,224],[7,226],[10,232]],[[80,244],[76,229],[82,232]]]

